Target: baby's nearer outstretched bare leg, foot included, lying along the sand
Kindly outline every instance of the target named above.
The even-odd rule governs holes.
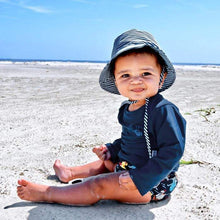
[[[19,180],[17,193],[23,200],[67,205],[91,205],[102,199],[137,204],[150,202],[150,193],[141,196],[137,189],[121,188],[118,181],[120,174],[121,172],[101,174],[65,187],[38,185]]]

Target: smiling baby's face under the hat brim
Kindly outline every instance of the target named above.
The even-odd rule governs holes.
[[[115,84],[129,100],[145,100],[157,94],[161,67],[154,55],[131,53],[115,61]]]

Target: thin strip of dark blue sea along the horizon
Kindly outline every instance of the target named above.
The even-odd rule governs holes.
[[[72,62],[72,63],[107,63],[108,61],[103,60],[44,60],[44,59],[0,59],[0,62]],[[188,63],[188,62],[173,62],[174,65],[192,65],[192,66],[200,66],[200,65],[214,65],[220,66],[220,63]]]

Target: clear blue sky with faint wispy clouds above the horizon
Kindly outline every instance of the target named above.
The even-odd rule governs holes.
[[[172,62],[220,63],[219,0],[0,0],[0,58],[105,61],[132,28]]]

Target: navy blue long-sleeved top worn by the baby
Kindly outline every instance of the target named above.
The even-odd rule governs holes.
[[[119,109],[118,120],[122,125],[121,138],[108,143],[114,163],[127,161],[136,167],[129,174],[141,195],[146,194],[170,172],[177,171],[185,146],[186,121],[178,108],[157,94],[148,104],[148,135],[151,149],[157,155],[148,156],[144,137],[145,106],[128,111],[129,104]]]

